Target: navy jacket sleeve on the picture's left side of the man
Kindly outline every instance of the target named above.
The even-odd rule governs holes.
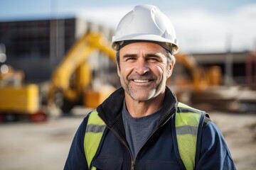
[[[85,159],[84,138],[87,125],[87,117],[82,121],[75,133],[75,137],[70,147],[68,158],[65,162],[64,170],[88,169]]]

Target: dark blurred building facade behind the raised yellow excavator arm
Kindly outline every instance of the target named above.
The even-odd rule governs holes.
[[[100,31],[109,39],[113,33],[112,28],[82,18],[4,21],[0,44],[5,47],[6,64],[23,70],[26,81],[48,81],[70,47],[88,31]]]

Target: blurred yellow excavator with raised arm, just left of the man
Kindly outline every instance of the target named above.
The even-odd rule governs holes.
[[[92,73],[87,59],[95,51],[100,51],[115,61],[115,51],[104,36],[99,33],[86,33],[75,42],[63,62],[53,72],[48,105],[57,106],[64,113],[81,103],[85,107],[95,108],[114,91],[103,84],[96,91],[90,86]]]

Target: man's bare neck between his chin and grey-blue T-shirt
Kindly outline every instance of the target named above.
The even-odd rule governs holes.
[[[148,101],[135,101],[129,94],[125,93],[127,111],[133,118],[142,118],[159,111],[164,103],[164,95],[160,94]]]

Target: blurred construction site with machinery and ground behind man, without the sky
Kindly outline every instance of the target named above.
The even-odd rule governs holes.
[[[0,169],[63,169],[85,115],[121,86],[113,34],[76,17],[0,22]],[[210,115],[237,169],[255,169],[256,51],[175,57],[178,101]]]

